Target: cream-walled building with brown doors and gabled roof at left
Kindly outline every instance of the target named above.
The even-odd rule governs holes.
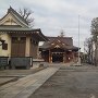
[[[11,7],[0,20],[0,38],[5,40],[0,46],[0,56],[3,57],[37,58],[38,42],[47,40],[40,28],[29,28],[27,22]]]

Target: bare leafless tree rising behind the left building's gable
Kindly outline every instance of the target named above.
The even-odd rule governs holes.
[[[34,17],[32,17],[33,11],[27,8],[19,10],[20,15],[27,22],[28,26],[34,26]]]

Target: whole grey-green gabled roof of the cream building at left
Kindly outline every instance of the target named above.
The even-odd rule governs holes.
[[[4,24],[4,22],[9,22],[9,17],[14,19],[20,24]],[[8,9],[8,13],[0,20],[0,33],[7,33],[11,35],[20,33],[24,35],[30,35],[34,38],[37,38],[39,41],[48,40],[48,38],[41,33],[40,28],[28,27],[27,22],[11,7]]]

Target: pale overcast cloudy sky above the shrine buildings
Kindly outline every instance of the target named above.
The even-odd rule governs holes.
[[[10,5],[14,10],[28,8],[33,13],[34,28],[41,28],[45,36],[72,37],[74,46],[84,51],[84,41],[90,37],[94,17],[98,17],[98,0],[0,0],[0,17]],[[79,19],[78,19],[79,17]],[[79,21],[79,32],[78,32]]]

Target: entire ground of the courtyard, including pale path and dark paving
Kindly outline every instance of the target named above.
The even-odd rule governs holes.
[[[98,66],[52,64],[36,73],[7,72],[0,73],[0,82],[11,75],[13,82],[0,86],[0,98],[98,98]]]

